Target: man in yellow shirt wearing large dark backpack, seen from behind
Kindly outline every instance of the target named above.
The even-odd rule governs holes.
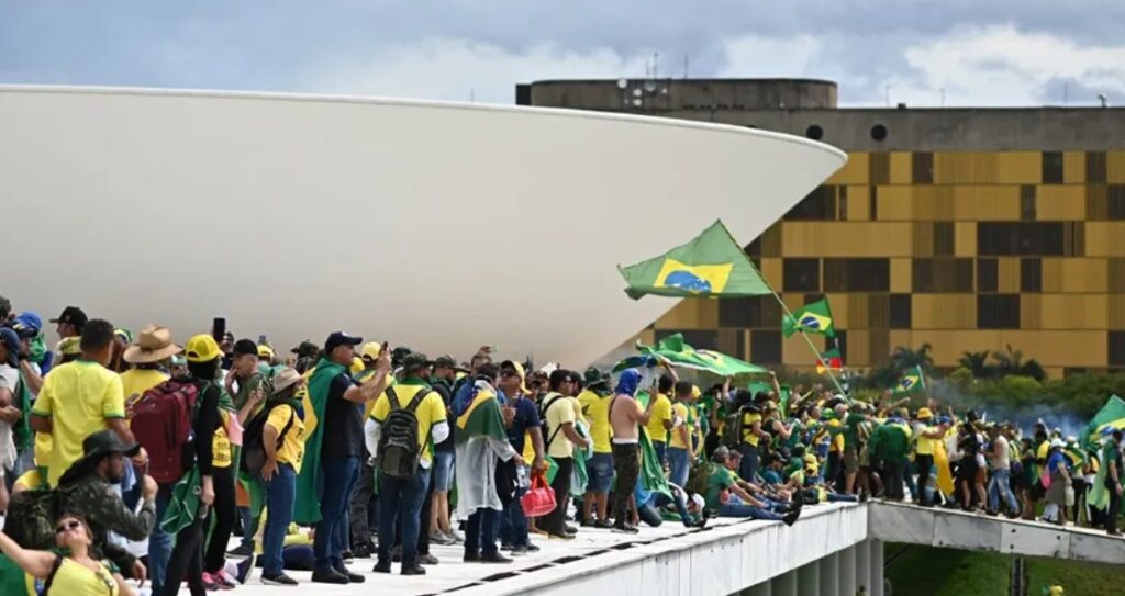
[[[425,575],[425,569],[418,565],[418,533],[421,521],[430,520],[430,512],[422,511],[429,493],[430,468],[433,461],[430,441],[432,437],[433,442],[440,443],[449,436],[446,403],[425,381],[430,378],[432,364],[425,354],[417,352],[403,359],[403,380],[394,387],[388,387],[378,397],[364,430],[367,449],[374,457],[381,459],[382,466],[379,470],[379,560],[375,566],[375,571],[379,574],[390,572],[390,548],[395,542],[396,518],[400,518],[402,574]],[[399,409],[413,410],[417,419],[418,464],[411,477],[388,473],[387,466],[393,459],[388,458],[389,452],[379,452],[380,446],[386,450],[395,439],[395,426],[386,423],[397,423],[390,418],[392,414]],[[388,433],[386,437],[384,432]],[[426,525],[429,526],[429,523]],[[426,527],[428,533],[429,531]]]

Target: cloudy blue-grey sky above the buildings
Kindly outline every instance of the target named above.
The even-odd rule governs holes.
[[[0,0],[0,83],[511,103],[542,79],[802,76],[844,105],[1125,105],[1125,0]]]

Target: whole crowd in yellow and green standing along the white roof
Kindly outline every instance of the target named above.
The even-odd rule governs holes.
[[[431,544],[504,565],[580,532],[792,525],[871,497],[1118,533],[1119,430],[1080,446],[890,390],[701,389],[667,362],[462,364],[343,332],[288,354],[224,328],[181,347],[78,307],[48,349],[36,313],[0,298],[0,322],[3,594],[201,596],[259,566],[271,585],[362,583],[349,563],[424,575]]]

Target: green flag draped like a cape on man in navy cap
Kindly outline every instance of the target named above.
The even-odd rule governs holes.
[[[305,464],[297,475],[297,502],[292,521],[307,525],[321,521],[321,445],[324,443],[324,410],[328,404],[332,379],[346,373],[344,367],[321,359],[308,379],[308,390],[304,396],[305,409]]]

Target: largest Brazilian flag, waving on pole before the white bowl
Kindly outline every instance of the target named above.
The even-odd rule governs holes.
[[[618,267],[633,300],[651,294],[673,297],[768,296],[770,285],[730,231],[718,220],[695,240],[660,256]]]

